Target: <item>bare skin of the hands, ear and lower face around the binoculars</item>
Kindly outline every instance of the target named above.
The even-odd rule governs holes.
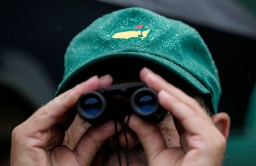
[[[159,102],[169,114],[158,125],[131,116],[126,131],[130,165],[221,165],[228,115],[209,117],[195,99],[147,68],[141,70],[140,78],[158,92]],[[12,132],[11,165],[119,165],[112,137],[114,122],[90,126],[72,110],[82,93],[110,86],[112,81],[110,75],[94,76],[17,126]],[[124,147],[122,124],[117,128],[119,144]],[[120,153],[125,165],[123,148]]]

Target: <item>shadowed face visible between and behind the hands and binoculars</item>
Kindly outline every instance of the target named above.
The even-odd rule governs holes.
[[[139,81],[139,80],[134,80]],[[120,82],[124,83],[125,81],[120,80],[117,81],[118,84]],[[117,103],[117,111],[122,111],[122,109],[127,109],[125,106],[127,104],[127,99],[120,96],[116,96],[114,99]],[[118,105],[119,104],[119,105]],[[114,123],[113,123],[114,125]],[[166,118],[157,124],[160,131],[162,132],[162,135],[164,137],[166,146],[168,148],[170,147],[180,147],[180,137],[178,134],[178,131],[176,129],[173,116],[169,113],[167,114]],[[177,124],[176,124],[177,125]],[[79,115],[76,115],[74,122],[66,132],[64,145],[68,146],[70,149],[74,149],[77,142],[79,141],[80,137],[84,132],[87,131],[87,129],[91,125],[84,121]],[[127,141],[129,143],[129,148],[127,150],[128,157],[129,157],[129,164],[130,165],[147,165],[147,159],[146,155],[144,153],[144,150],[142,148],[142,145],[139,142],[139,139],[137,135],[129,128],[126,128],[126,135],[127,135]],[[119,150],[120,150],[120,156],[121,156],[121,162],[122,165],[126,165],[125,160],[125,136],[124,131],[122,130],[121,133],[119,133]],[[111,137],[108,141],[106,141],[103,146],[101,146],[100,150],[98,151],[97,155],[94,158],[92,165],[119,165],[118,157],[117,157],[117,141],[114,139],[114,137]]]

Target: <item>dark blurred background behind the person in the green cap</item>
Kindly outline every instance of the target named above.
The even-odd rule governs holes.
[[[219,111],[231,118],[224,165],[256,165],[256,1],[2,0],[0,2],[0,165],[12,129],[54,98],[71,39],[96,18],[143,7],[195,27],[219,69]]]

